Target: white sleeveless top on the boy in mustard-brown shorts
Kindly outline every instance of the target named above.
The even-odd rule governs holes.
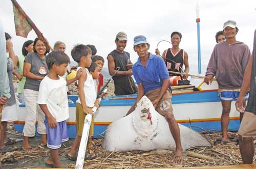
[[[78,67],[76,71],[78,71],[79,69],[81,69],[81,67]],[[97,98],[97,92],[95,90],[93,76],[91,73],[89,73],[87,68],[86,68],[86,73],[87,73],[87,79],[86,81],[84,81],[83,91],[84,91],[84,94],[86,95],[86,105],[88,107],[93,107]],[[79,84],[78,80],[77,80],[77,84]],[[76,100],[76,102],[82,104],[79,97]]]

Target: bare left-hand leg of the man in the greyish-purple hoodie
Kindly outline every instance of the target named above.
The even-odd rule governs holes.
[[[222,114],[221,114],[221,130],[222,130],[222,138],[225,141],[229,141],[227,137],[227,128],[229,124],[229,113],[231,108],[231,101],[221,101],[222,104]]]

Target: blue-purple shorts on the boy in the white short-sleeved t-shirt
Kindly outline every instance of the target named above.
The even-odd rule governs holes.
[[[68,126],[66,121],[58,122],[56,128],[50,128],[48,119],[45,120],[47,133],[47,147],[50,149],[59,149],[62,142],[69,140]]]

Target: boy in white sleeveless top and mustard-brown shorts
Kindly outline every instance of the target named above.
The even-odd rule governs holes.
[[[97,93],[95,91],[93,77],[87,69],[90,67],[92,62],[92,50],[88,46],[80,44],[76,45],[71,50],[71,55],[74,61],[78,63],[79,67],[77,70],[84,69],[81,73],[81,77],[78,80],[78,99],[76,101],[77,134],[71,150],[68,154],[66,154],[68,159],[75,161],[75,153],[81,142],[84,119],[86,118],[87,114],[91,114],[93,116],[92,108],[94,106],[98,107],[99,101],[96,101]],[[93,136],[93,127],[93,123],[91,123],[89,136]]]

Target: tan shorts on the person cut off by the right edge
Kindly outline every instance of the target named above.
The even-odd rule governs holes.
[[[242,137],[256,136],[256,115],[252,112],[245,112],[238,134]]]

